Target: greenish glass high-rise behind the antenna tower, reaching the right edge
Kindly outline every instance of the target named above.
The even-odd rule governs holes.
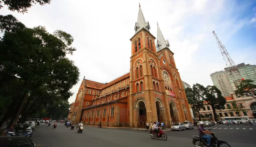
[[[256,84],[256,65],[241,63],[236,66],[241,75],[241,77],[239,77],[239,79],[242,79],[242,78],[250,79],[250,80],[254,81],[254,83],[252,83],[252,84]],[[229,74],[228,68],[224,68],[224,70],[227,73],[227,78],[230,82],[230,85],[232,86],[233,91],[235,91],[236,90],[235,83],[232,80],[231,75]],[[238,80],[238,79],[235,79],[235,80]]]

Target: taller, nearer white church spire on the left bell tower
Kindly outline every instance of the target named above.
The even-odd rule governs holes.
[[[138,14],[138,19],[137,22],[135,23],[134,26],[134,30],[135,30],[135,34],[141,30],[142,28],[145,28],[149,31],[150,26],[149,26],[149,22],[146,23],[144,15],[142,13],[142,10],[140,8],[140,4],[139,4],[139,14]]]

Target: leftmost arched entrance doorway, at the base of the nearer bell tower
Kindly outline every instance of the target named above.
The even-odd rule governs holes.
[[[146,102],[144,98],[137,98],[134,103],[134,111],[135,111],[135,126],[142,127],[142,122],[144,126],[147,121],[147,111],[146,111]]]

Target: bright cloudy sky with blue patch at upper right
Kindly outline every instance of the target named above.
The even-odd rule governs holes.
[[[181,79],[190,86],[213,85],[210,74],[227,67],[212,31],[235,64],[256,64],[256,1],[251,0],[52,0],[46,6],[35,4],[26,14],[7,6],[0,14],[12,14],[30,28],[41,25],[74,37],[77,51],[68,57],[79,67],[80,81],[71,89],[72,103],[84,76],[103,83],[129,71],[129,39],[135,34],[139,3],[155,37],[158,22]]]

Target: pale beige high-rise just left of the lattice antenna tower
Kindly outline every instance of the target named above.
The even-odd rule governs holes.
[[[230,85],[230,82],[227,78],[226,71],[216,71],[211,75],[213,84],[221,91],[222,96],[230,96],[233,89]]]

